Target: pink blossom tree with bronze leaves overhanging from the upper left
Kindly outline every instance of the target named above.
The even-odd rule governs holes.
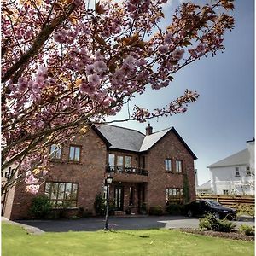
[[[137,94],[160,90],[173,74],[223,51],[234,26],[231,0],[181,3],[160,27],[166,0],[2,1],[2,169],[36,193],[48,149],[115,115]],[[129,119],[183,113],[198,94],[186,90],[167,106],[134,106]],[[14,174],[15,175],[15,174]]]

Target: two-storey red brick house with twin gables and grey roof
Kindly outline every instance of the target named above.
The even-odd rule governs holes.
[[[143,203],[149,209],[166,207],[171,201],[194,200],[195,154],[173,127],[152,130],[148,125],[144,135],[114,125],[99,125],[71,144],[61,148],[52,145],[49,150],[55,155],[38,195],[49,196],[55,207],[65,204],[73,212],[83,207],[95,213],[96,195],[104,193],[104,179],[111,172],[110,200],[116,211],[140,213]],[[25,192],[25,184],[11,189],[3,215],[27,218],[34,196]]]

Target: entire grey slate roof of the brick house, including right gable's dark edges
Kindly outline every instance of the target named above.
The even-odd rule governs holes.
[[[183,138],[179,136],[177,131],[172,128],[167,128],[162,131],[154,132],[150,135],[144,135],[140,131],[119,127],[115,125],[97,125],[95,126],[96,133],[102,137],[107,143],[108,148],[128,150],[133,152],[143,152],[152,148],[155,143],[159,142],[162,137],[169,131],[173,131],[179,138],[184,147],[188,149],[194,159],[197,159],[195,154],[191,151],[189,146],[183,141]]]

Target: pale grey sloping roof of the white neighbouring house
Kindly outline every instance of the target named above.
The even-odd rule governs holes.
[[[250,163],[250,154],[248,149],[243,149],[236,154],[232,154],[223,160],[219,160],[218,162],[212,164],[211,166],[207,166],[207,168],[214,167],[224,167],[224,166],[243,166],[248,165]]]

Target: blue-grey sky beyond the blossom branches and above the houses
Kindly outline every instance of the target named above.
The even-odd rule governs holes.
[[[163,24],[168,23],[180,2],[172,0],[166,5]],[[133,104],[154,109],[182,96],[187,88],[200,94],[186,113],[150,120],[154,131],[174,126],[183,137],[198,158],[195,168],[199,185],[211,178],[207,166],[246,148],[247,140],[254,137],[254,1],[236,0],[233,15],[235,29],[224,36],[223,54],[218,52],[213,58],[195,61],[176,73],[167,88],[148,90],[130,102],[131,109]],[[125,117],[127,108],[108,120]],[[129,121],[113,125],[145,133],[147,123]]]

